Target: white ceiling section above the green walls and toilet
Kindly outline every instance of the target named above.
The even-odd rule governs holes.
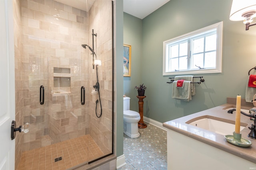
[[[124,0],[124,12],[143,19],[170,0]]]

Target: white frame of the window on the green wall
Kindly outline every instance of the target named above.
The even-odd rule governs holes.
[[[213,25],[209,25],[207,27],[198,29],[196,31],[192,31],[190,33],[181,35],[179,37],[175,37],[173,39],[168,39],[163,42],[163,76],[166,75],[178,75],[178,74],[204,74],[204,73],[220,73],[222,72],[222,24],[223,22],[218,22]],[[204,32],[210,31],[212,29],[216,29],[216,68],[206,68],[206,69],[191,69],[191,70],[180,70],[180,71],[171,71],[167,72],[166,69],[168,67],[168,44],[182,41],[184,39],[193,38]],[[190,42],[188,42],[190,44]],[[188,56],[190,57],[190,51],[188,50]]]

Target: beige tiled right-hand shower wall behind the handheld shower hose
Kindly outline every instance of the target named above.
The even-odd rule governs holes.
[[[100,24],[99,24],[100,23]],[[89,10],[89,29],[88,35],[91,35],[92,29],[97,33],[96,54],[97,59],[102,61],[98,66],[100,99],[102,102],[102,116],[96,117],[95,101],[98,95],[89,93],[89,131],[91,137],[105,153],[112,152],[112,1],[96,0]],[[92,36],[88,37],[89,45],[92,45]],[[94,39],[95,41],[95,39]],[[92,58],[89,56],[89,87],[92,90],[96,84],[96,68],[90,68]],[[97,106],[97,114],[100,115],[100,106]]]

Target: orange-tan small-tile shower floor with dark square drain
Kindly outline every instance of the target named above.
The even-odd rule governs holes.
[[[103,155],[104,153],[92,137],[84,135],[76,139],[23,152],[16,170],[66,170]],[[62,159],[55,162],[54,159],[60,156]]]

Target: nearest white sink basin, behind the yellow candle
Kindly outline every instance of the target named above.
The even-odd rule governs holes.
[[[227,119],[221,119],[220,121],[216,120],[218,118],[209,115],[197,117],[195,119],[195,121],[193,121],[193,119],[192,122],[187,121],[186,123],[221,135],[230,135],[235,131],[234,121],[232,122]],[[240,131],[247,126],[246,123],[241,123],[240,125]]]

